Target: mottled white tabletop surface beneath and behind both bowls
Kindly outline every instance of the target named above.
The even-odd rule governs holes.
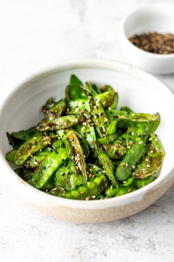
[[[125,61],[121,18],[158,0],[2,0],[0,103],[32,73],[73,58]],[[174,3],[173,0],[165,2]],[[174,91],[174,74],[159,76]],[[103,224],[58,221],[11,193],[0,170],[1,262],[173,262],[174,185],[154,205]]]

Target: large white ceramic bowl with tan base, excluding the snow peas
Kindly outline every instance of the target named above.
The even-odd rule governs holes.
[[[64,97],[71,74],[83,82],[111,84],[119,92],[118,107],[127,105],[137,112],[160,113],[156,131],[166,151],[160,177],[128,195],[94,201],[64,199],[48,195],[19,178],[5,160],[11,149],[6,131],[27,129],[43,117],[41,106],[50,96]],[[81,60],[61,63],[37,74],[15,88],[0,109],[0,168],[12,190],[32,207],[59,219],[102,222],[137,213],[156,201],[174,182],[174,95],[157,78],[123,63],[106,60]],[[2,125],[3,123],[3,125]]]

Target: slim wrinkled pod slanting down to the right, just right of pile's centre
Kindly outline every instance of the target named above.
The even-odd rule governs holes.
[[[99,160],[102,162],[102,166],[103,166],[104,171],[106,172],[106,175],[108,176],[108,178],[113,183],[115,183],[116,182],[116,178],[114,176],[114,165],[113,165],[111,159],[102,150],[102,147],[99,144],[97,144],[96,141],[94,141],[94,148],[95,148],[95,152],[96,152]]]

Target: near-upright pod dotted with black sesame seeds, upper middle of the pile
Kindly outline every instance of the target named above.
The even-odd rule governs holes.
[[[95,128],[99,136],[104,136],[107,133],[109,127],[108,118],[102,108],[102,105],[99,102],[96,102],[95,99],[91,99],[90,102],[92,120],[95,124]]]

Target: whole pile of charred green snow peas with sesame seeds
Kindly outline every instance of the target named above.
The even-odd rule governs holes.
[[[118,197],[159,176],[164,150],[157,135],[160,115],[118,110],[110,85],[83,84],[75,75],[65,98],[49,98],[43,119],[26,131],[7,133],[6,159],[30,185],[58,197]]]

